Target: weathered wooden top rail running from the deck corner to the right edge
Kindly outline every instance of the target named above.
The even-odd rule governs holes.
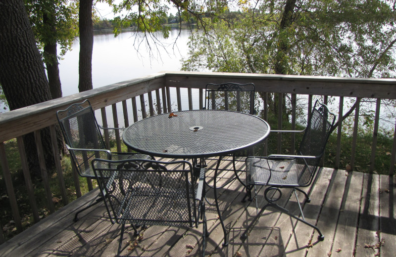
[[[205,78],[207,78],[205,80]],[[167,86],[204,88],[207,83],[253,83],[257,92],[396,99],[396,79],[245,73],[166,72]]]

